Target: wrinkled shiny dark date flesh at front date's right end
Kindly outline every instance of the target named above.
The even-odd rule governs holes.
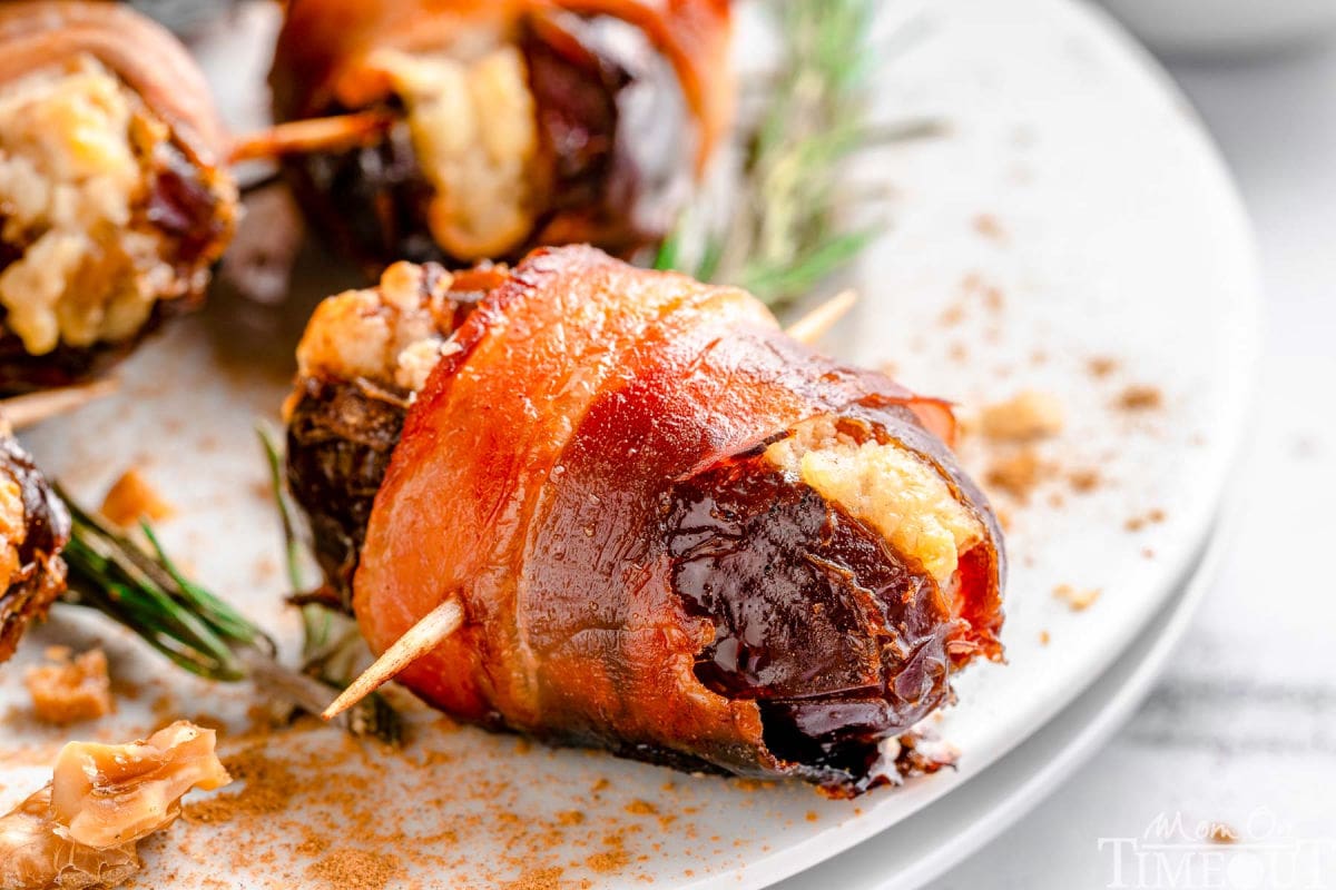
[[[675,486],[673,587],[715,623],[696,677],[758,702],[766,746],[862,790],[879,742],[950,694],[950,611],[922,566],[802,482],[740,455]]]

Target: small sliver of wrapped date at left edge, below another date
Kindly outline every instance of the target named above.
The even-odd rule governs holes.
[[[69,512],[8,430],[0,432],[0,662],[65,588]]]

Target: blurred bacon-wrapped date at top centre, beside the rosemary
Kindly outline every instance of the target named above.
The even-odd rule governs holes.
[[[287,161],[311,223],[373,270],[657,242],[729,116],[727,0],[294,0],[274,117],[379,109]]]

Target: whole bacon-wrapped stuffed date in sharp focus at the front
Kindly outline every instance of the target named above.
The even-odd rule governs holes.
[[[895,739],[1001,654],[1001,535],[947,407],[737,290],[587,247],[490,275],[461,300],[391,267],[301,347],[290,478],[317,515],[357,482],[339,567],[371,647],[465,610],[399,681],[485,726],[836,795],[907,769]],[[399,408],[349,444],[363,399]]]

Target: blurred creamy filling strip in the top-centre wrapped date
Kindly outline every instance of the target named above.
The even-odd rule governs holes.
[[[533,228],[538,125],[514,47],[473,61],[382,49],[369,60],[403,100],[413,149],[434,189],[432,236],[464,260],[514,250]]]

